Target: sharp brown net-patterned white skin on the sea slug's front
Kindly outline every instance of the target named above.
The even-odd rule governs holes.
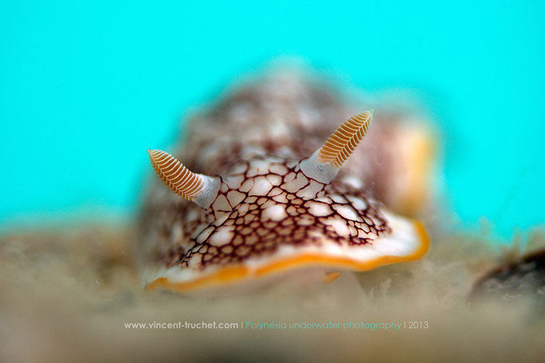
[[[305,177],[300,162],[252,158],[222,179],[206,212],[188,211],[189,243],[163,252],[163,261],[206,268],[273,254],[281,245],[365,245],[392,231],[379,209],[346,182]]]

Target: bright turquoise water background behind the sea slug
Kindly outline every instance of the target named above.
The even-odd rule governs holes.
[[[454,226],[545,222],[545,1],[0,1],[0,226],[130,219],[146,149],[237,75],[298,57],[410,90]]]

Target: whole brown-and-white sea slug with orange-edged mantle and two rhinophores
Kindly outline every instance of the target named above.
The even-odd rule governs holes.
[[[279,72],[194,116],[173,155],[148,150],[168,188],[156,178],[142,210],[146,285],[326,280],[422,258],[434,133],[402,114],[358,111],[322,83]]]

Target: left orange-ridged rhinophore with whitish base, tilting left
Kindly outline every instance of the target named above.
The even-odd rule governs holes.
[[[148,149],[148,153],[153,169],[174,193],[203,208],[209,207],[216,198],[219,190],[217,178],[191,172],[165,151]]]

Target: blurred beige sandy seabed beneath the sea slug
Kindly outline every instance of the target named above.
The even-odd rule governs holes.
[[[326,285],[195,298],[142,289],[132,230],[79,226],[1,237],[0,361],[545,357],[543,299],[468,300],[473,283],[504,258],[485,238],[435,236],[422,261],[343,273]],[[220,323],[238,327],[219,329]]]

